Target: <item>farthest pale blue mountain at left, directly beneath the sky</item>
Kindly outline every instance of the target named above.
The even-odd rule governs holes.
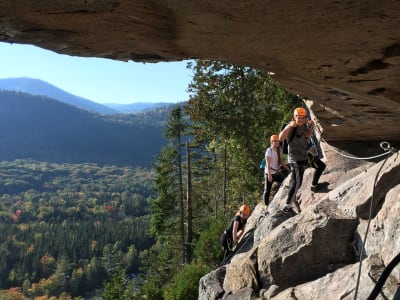
[[[0,90],[23,92],[32,95],[42,95],[68,103],[70,105],[94,111],[100,114],[115,114],[112,108],[91,100],[72,95],[45,81],[32,78],[0,79]]]

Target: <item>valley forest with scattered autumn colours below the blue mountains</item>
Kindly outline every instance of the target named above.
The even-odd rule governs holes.
[[[0,162],[0,289],[82,297],[117,266],[137,273],[154,243],[152,179],[130,167]]]

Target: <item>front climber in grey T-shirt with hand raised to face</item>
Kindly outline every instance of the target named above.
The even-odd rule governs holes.
[[[307,164],[307,144],[313,129],[314,122],[307,118],[307,110],[297,107],[293,112],[292,121],[279,133],[279,139],[281,141],[286,139],[288,143],[288,164],[292,174],[284,212],[293,212],[291,204],[303,182]]]

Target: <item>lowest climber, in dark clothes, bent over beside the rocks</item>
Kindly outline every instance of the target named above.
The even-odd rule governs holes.
[[[229,226],[220,236],[219,240],[221,246],[224,248],[224,259],[222,262],[227,260],[227,258],[233,252],[233,248],[238,244],[246,229],[247,218],[249,216],[250,206],[243,204],[239,211],[232,218]]]

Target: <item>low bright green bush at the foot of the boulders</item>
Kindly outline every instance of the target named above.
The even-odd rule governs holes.
[[[199,297],[199,280],[211,271],[210,267],[185,265],[175,275],[173,282],[165,290],[165,298],[173,300],[196,300]]]

